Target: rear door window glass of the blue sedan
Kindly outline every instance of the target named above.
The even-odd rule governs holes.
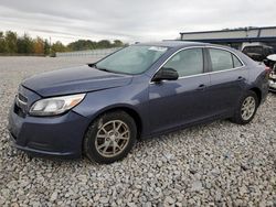
[[[232,54],[227,51],[210,48],[213,72],[233,68]]]

